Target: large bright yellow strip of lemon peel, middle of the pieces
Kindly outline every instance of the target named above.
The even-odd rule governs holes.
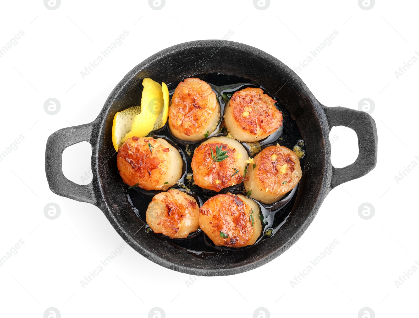
[[[141,112],[135,116],[131,131],[122,139],[122,144],[131,137],[145,137],[153,130],[154,123],[163,113],[163,89],[151,78],[142,81],[144,86],[141,95]]]

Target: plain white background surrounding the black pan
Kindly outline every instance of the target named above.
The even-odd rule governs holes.
[[[417,1],[376,1],[362,10],[357,0],[271,1],[257,10],[251,0],[166,0],[152,10],[145,0],[62,0],[47,10],[42,0],[3,1],[0,47],[24,31],[0,57],[2,124],[0,153],[22,135],[0,162],[0,257],[19,240],[18,253],[0,267],[2,317],[43,317],[49,307],[65,317],[416,317],[419,271],[395,281],[419,262],[417,247],[419,168],[401,181],[399,171],[419,158],[417,85],[419,62],[395,71],[419,51]],[[84,79],[80,71],[124,30],[121,46]],[[375,102],[378,163],[367,176],[328,194],[297,243],[258,269],[229,277],[198,277],[158,266],[127,246],[93,281],[80,281],[123,243],[101,210],[53,194],[44,170],[47,138],[63,127],[93,121],[114,86],[135,65],[174,44],[194,39],[229,40],[257,47],[292,69],[334,30],[339,35],[299,76],[326,106],[358,109]],[[44,101],[57,98],[55,115]],[[335,127],[332,162],[357,156],[356,134]],[[64,153],[64,172],[83,184],[90,171],[90,145]],[[91,179],[91,178],[90,178]],[[88,181],[84,181],[87,184]],[[44,216],[54,202],[61,214]],[[358,207],[372,204],[364,220]],[[333,240],[339,244],[299,284],[290,281]],[[406,276],[405,276],[406,277]],[[266,315],[267,316],[267,315]],[[372,317],[372,315],[371,315]]]

